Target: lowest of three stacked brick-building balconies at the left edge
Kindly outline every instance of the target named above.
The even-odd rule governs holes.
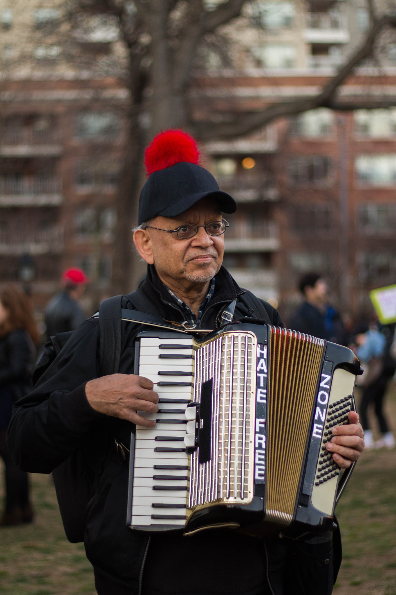
[[[7,229],[0,230],[0,255],[33,256],[59,253],[64,249],[63,227],[52,226],[43,230]]]

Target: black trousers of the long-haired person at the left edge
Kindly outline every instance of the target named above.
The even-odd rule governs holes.
[[[25,471],[18,469],[9,455],[7,447],[7,430],[0,428],[0,456],[5,464],[5,490],[7,494],[5,512],[12,512],[20,507],[26,508],[29,502],[28,477]]]

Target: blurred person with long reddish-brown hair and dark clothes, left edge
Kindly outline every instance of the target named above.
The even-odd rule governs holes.
[[[28,297],[8,285],[0,291],[0,456],[5,464],[5,510],[0,526],[33,521],[28,477],[9,455],[6,434],[12,406],[31,390],[40,335]]]

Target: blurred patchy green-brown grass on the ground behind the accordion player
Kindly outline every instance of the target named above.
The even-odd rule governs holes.
[[[393,387],[387,412],[396,428]],[[34,524],[0,528],[0,595],[96,594],[83,544],[66,540],[51,478],[31,475],[31,486]],[[343,564],[334,595],[396,595],[396,450],[363,453],[336,512]]]

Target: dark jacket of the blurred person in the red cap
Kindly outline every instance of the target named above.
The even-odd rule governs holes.
[[[44,320],[49,338],[57,333],[75,331],[84,322],[85,314],[77,300],[64,290],[50,300],[45,309]]]

